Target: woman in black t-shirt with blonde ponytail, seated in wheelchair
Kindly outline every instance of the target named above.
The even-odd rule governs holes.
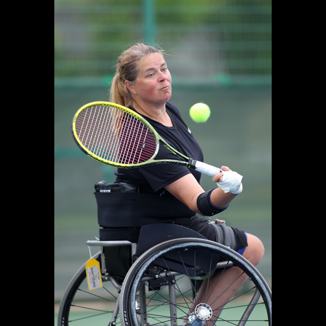
[[[177,108],[168,102],[171,97],[171,75],[161,49],[137,43],[125,50],[118,59],[110,97],[111,102],[129,107],[144,116],[163,139],[178,151],[203,161],[198,143],[182,121]],[[173,156],[161,147],[157,159]],[[222,172],[212,179],[218,186],[222,185],[223,171],[229,170],[227,166],[222,166],[221,169]],[[118,168],[116,182],[138,184],[147,192],[160,196],[163,203],[164,199],[173,198],[175,213],[173,215],[167,212],[166,221],[186,226],[209,240],[229,245],[253,265],[257,265],[264,253],[263,244],[258,238],[227,227],[225,223],[212,224],[207,218],[195,215],[212,216],[222,212],[241,193],[242,184],[233,193],[225,193],[220,187],[205,192],[199,183],[200,175],[201,173],[185,166],[159,164],[136,169]],[[164,213],[164,205],[160,208],[160,213],[162,209]],[[151,212],[153,216],[155,213]],[[233,278],[237,273],[237,268],[231,268],[223,278],[227,282],[228,278]],[[233,286],[233,292],[243,282],[243,279],[238,280]],[[233,292],[226,295],[232,297]]]

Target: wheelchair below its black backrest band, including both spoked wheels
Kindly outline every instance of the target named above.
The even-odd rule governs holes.
[[[169,223],[108,228],[86,244],[100,247],[92,258],[103,286],[88,288],[85,263],[65,290],[58,326],[272,325],[271,290],[258,270],[193,230]],[[224,302],[237,279],[219,286],[220,278],[212,284],[211,276],[229,268],[247,279]],[[220,288],[217,297],[208,290],[214,286]]]

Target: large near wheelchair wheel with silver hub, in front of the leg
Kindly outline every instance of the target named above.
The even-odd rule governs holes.
[[[247,279],[222,301],[238,280],[219,285],[230,268]],[[208,287],[220,293],[212,297]],[[271,326],[272,299],[263,277],[243,256],[209,240],[184,238],[158,244],[134,262],[122,285],[120,313],[123,326]]]

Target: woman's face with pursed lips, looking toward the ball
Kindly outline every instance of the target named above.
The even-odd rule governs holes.
[[[146,55],[138,63],[139,73],[132,84],[127,85],[132,97],[150,105],[165,104],[171,97],[171,75],[161,53]]]

